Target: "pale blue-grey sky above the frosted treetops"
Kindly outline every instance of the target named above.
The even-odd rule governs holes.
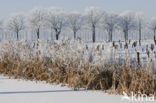
[[[96,6],[116,13],[131,10],[143,12],[146,17],[156,16],[156,0],[0,0],[0,18],[5,18],[11,13],[28,13],[36,6],[55,6],[65,11],[80,12],[86,7]]]

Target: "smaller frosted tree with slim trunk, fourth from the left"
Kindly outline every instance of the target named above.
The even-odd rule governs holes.
[[[68,24],[73,31],[74,39],[76,39],[76,34],[81,29],[83,24],[82,15],[78,12],[72,12],[68,14]]]

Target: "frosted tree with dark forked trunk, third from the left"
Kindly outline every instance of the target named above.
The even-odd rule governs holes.
[[[56,40],[59,39],[62,28],[66,24],[66,15],[62,9],[50,7],[47,9],[46,21],[51,30],[55,31]]]

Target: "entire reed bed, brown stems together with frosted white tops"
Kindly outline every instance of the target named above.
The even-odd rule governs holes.
[[[42,50],[40,41],[37,43],[33,49],[27,43],[10,41],[1,44],[0,73],[74,89],[118,94],[124,91],[129,95],[134,92],[156,97],[156,77],[150,63],[146,67],[132,66],[129,59],[122,64],[112,63],[112,50],[108,52],[105,44],[88,50],[81,41],[65,40],[46,45]]]

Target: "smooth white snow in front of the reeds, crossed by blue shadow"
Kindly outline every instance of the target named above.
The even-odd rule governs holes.
[[[73,91],[60,85],[0,76],[0,103],[132,103],[102,91]],[[139,102],[140,103],[140,102]],[[148,102],[149,103],[149,102]],[[154,103],[154,102],[150,102]]]

